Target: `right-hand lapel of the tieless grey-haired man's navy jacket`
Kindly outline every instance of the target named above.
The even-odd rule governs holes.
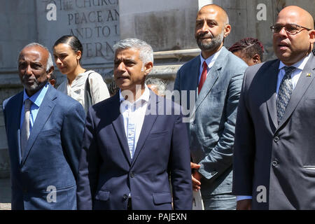
[[[158,96],[150,90],[150,100],[148,102],[148,107],[146,109],[146,116],[144,116],[144,123],[141,128],[140,136],[137,142],[137,147],[134,151],[134,158],[132,159],[131,167],[134,165],[134,162],[137,160],[139,153],[141,152],[144,146],[144,142],[146,141],[148,134],[150,134],[156,118],[158,118],[158,114],[163,114],[163,113],[158,113],[159,108],[160,109],[164,108],[158,105],[159,102],[160,101],[158,99]],[[151,113],[149,113],[149,111],[151,111]],[[155,111],[156,113],[152,113],[152,111]]]

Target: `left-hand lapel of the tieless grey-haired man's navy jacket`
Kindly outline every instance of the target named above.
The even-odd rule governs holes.
[[[120,99],[119,99],[119,92],[115,95],[113,99],[113,106],[111,106],[109,111],[111,111],[111,116],[113,119],[113,128],[116,132],[116,135],[118,137],[118,140],[120,142],[120,146],[123,149],[123,153],[126,157],[126,160],[128,161],[129,165],[131,165],[131,157],[130,157],[130,151],[129,146],[127,144],[127,137],[124,127],[124,120],[123,115],[120,113]]]

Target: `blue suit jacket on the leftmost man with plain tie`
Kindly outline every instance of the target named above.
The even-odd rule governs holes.
[[[83,107],[49,85],[21,158],[22,102],[23,92],[3,102],[12,209],[76,209],[76,175],[85,120]],[[56,202],[48,202],[51,193],[47,191],[48,186],[55,186]]]

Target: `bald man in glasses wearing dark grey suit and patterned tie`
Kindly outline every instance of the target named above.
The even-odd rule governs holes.
[[[237,209],[315,209],[314,20],[288,6],[270,28],[278,59],[244,76],[233,193]]]

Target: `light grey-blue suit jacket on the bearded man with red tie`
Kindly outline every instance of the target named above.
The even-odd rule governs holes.
[[[197,97],[195,120],[189,125],[190,151],[193,162],[201,165],[202,195],[232,192],[235,121],[246,67],[243,60],[223,47]],[[179,69],[174,90],[197,90],[199,73],[197,56]],[[186,100],[189,97],[188,92]]]

